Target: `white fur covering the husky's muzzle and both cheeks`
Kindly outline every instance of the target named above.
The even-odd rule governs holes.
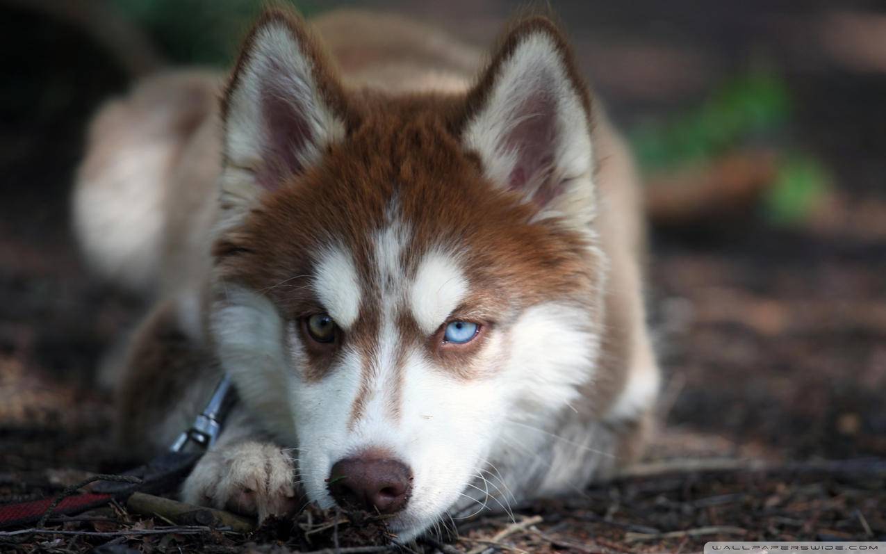
[[[436,255],[428,259],[439,260]],[[401,283],[389,293],[395,297],[407,285],[414,290],[414,283]],[[397,309],[411,309],[408,303],[388,301]],[[300,334],[293,324],[285,326],[263,297],[229,291],[214,324],[221,336],[222,366],[235,378],[251,413],[259,414],[284,445],[297,445],[300,478],[310,500],[332,506],[325,481],[332,464],[362,449],[387,449],[412,468],[408,507],[389,521],[400,539],[408,540],[450,509],[473,511],[477,502],[506,506],[510,490],[530,495],[539,485],[563,490],[578,482],[568,479],[575,478],[577,464],[581,475],[595,471],[597,463],[587,456],[595,439],[581,429],[573,439],[563,439],[561,454],[542,454],[560,441],[552,438],[558,432],[557,414],[569,410],[578,398],[577,387],[593,375],[596,339],[587,317],[562,304],[526,310],[509,330],[487,333],[471,363],[480,371],[478,378],[458,378],[424,352],[410,350],[400,370],[399,416],[392,410],[392,378],[402,345],[391,320],[383,320],[379,329],[376,359],[362,360],[346,345],[340,362],[319,382],[307,382],[299,371],[307,360]],[[288,345],[280,344],[282,336]],[[367,362],[372,368],[369,394],[361,417],[352,422]],[[489,498],[473,484],[482,485],[477,476],[487,464],[504,479],[490,489]]]

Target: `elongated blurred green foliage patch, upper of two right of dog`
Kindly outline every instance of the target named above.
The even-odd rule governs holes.
[[[708,160],[749,137],[777,131],[790,113],[787,87],[772,73],[740,75],[703,105],[671,121],[641,126],[632,134],[644,170]]]

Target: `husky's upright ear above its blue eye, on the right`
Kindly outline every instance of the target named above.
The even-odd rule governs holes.
[[[579,201],[590,218],[590,100],[550,20],[524,20],[504,36],[467,106],[462,142],[487,178],[542,212],[574,213]]]

